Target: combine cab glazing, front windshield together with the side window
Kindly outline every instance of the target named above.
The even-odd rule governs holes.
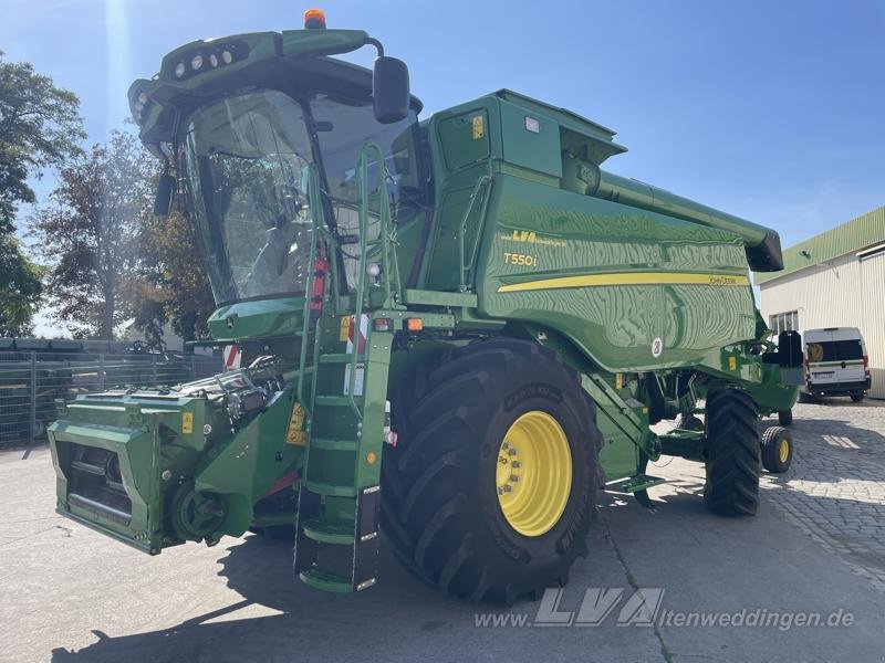
[[[310,113],[311,117],[305,117]],[[316,133],[311,145],[308,126]],[[216,302],[296,294],[308,280],[310,232],[308,167],[317,168],[326,215],[340,246],[347,287],[358,271],[360,192],[356,162],[366,141],[385,155],[387,178],[369,162],[369,219],[365,240],[378,236],[381,196],[402,222],[420,204],[414,110],[399,123],[378,124],[371,99],[313,93],[300,104],[262,90],[202,106],[185,127],[185,169],[195,224],[207,252]],[[317,251],[325,254],[320,242]]]

